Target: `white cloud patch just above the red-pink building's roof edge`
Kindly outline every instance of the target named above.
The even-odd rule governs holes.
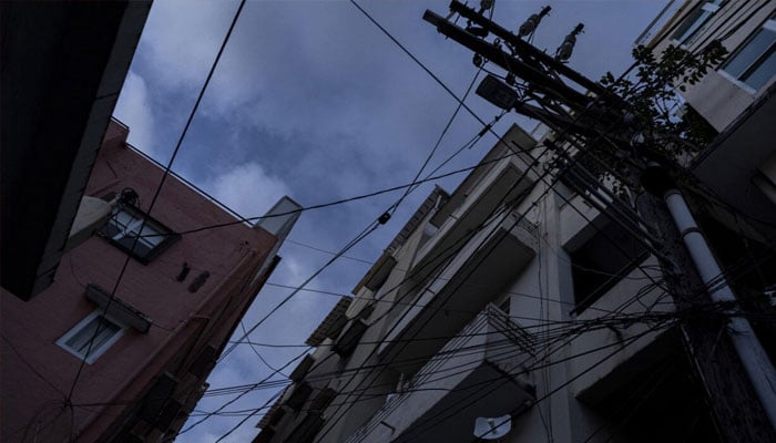
[[[205,186],[224,205],[245,217],[263,215],[290,190],[255,162],[238,165],[217,175]]]

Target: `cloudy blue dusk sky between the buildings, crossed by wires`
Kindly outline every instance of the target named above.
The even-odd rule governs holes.
[[[665,2],[501,0],[496,1],[493,20],[514,31],[530,14],[551,6],[533,40],[549,53],[583,22],[584,33],[569,65],[599,79],[606,71],[619,74],[630,64],[633,41]],[[472,53],[421,19],[426,9],[447,16],[448,1],[359,4],[463,96],[477,73]],[[114,112],[129,125],[133,146],[163,164],[169,162],[237,6],[233,0],[154,1]],[[466,103],[483,121],[498,114],[473,93]],[[249,0],[172,169],[244,217],[264,214],[283,195],[303,206],[339,200],[410,183],[457,104],[350,2]],[[515,122],[529,130],[535,124],[508,114],[494,132],[503,133]],[[426,173],[481,128],[461,110]],[[494,136],[486,135],[439,174],[477,164],[494,143]],[[459,174],[436,184],[451,192],[462,178]],[[423,184],[410,194],[386,225],[307,288],[349,295],[433,185]],[[399,190],[303,213],[280,249],[283,260],[269,279],[272,285],[259,292],[244,320],[246,328],[292,291],[274,285],[302,285],[400,195]],[[337,299],[299,291],[251,340],[303,344]],[[242,344],[216,365],[208,383],[212,389],[255,383],[273,372],[269,367],[283,367],[302,350]],[[282,372],[287,374],[294,367]],[[258,408],[275,393],[256,390],[224,411]],[[214,411],[231,399],[205,398],[195,411]],[[251,441],[261,416],[248,419],[224,441]],[[242,419],[238,414],[212,416],[177,441],[213,442]]]

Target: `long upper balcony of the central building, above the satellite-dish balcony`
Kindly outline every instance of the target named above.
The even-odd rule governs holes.
[[[517,222],[517,223],[515,223]],[[404,373],[415,373],[480,312],[535,256],[535,226],[512,216],[472,237],[386,333],[380,357]]]

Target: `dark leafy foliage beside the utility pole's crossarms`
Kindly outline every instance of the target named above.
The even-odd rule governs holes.
[[[726,52],[718,41],[697,54],[670,45],[660,58],[647,48],[635,48],[634,74],[615,79],[607,72],[600,83],[625,103],[625,122],[619,133],[641,143],[631,144],[630,152],[622,142],[598,144],[576,161],[627,200],[630,190],[639,187],[639,181],[632,176],[637,159],[647,156],[678,165],[694,157],[716,136],[716,131],[692,107],[683,105],[677,91],[684,92],[701,81]]]

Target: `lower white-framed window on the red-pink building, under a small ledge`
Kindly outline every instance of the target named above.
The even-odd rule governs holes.
[[[57,344],[91,364],[123,334],[123,327],[102,316],[100,311],[94,311],[57,340]]]

